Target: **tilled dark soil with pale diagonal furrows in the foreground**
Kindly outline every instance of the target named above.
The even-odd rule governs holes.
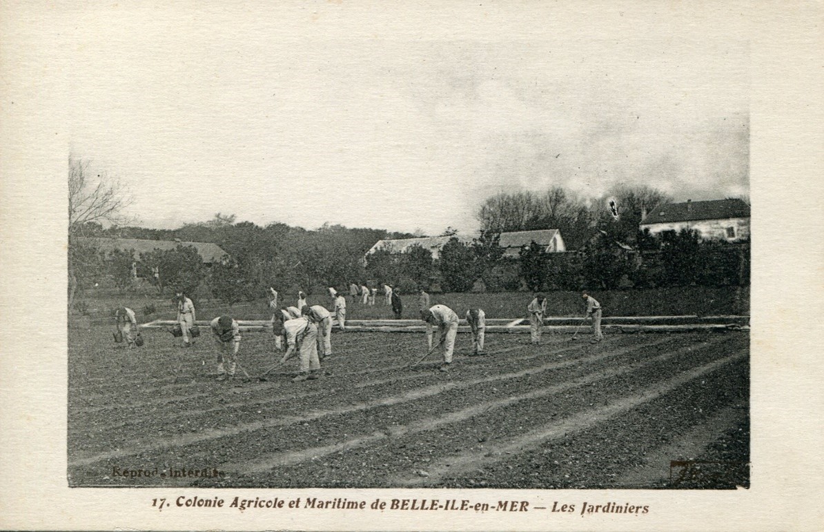
[[[437,371],[423,334],[335,333],[321,380],[214,379],[215,351],[70,330],[73,486],[735,488],[748,486],[749,337],[488,334]],[[107,338],[108,337],[108,338]],[[244,334],[241,365],[280,357]],[[238,371],[241,376],[241,371]],[[671,460],[681,462],[671,468]],[[703,469],[702,469],[703,468]],[[686,471],[686,474],[685,474]],[[217,474],[216,474],[217,472]]]

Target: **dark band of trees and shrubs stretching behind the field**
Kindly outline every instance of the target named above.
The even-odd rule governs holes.
[[[69,167],[70,306],[78,290],[101,280],[121,289],[133,284],[133,252],[104,255],[93,240],[83,238],[89,236],[217,244],[228,258],[208,267],[194,247],[185,245],[143,253],[138,276],[161,294],[198,292],[230,304],[259,299],[270,286],[311,294],[327,287],[345,289],[352,282],[386,282],[406,293],[420,288],[538,291],[749,282],[748,245],[702,241],[691,231],[655,237],[640,232],[644,211],[671,200],[643,186],[616,186],[601,198],[584,198],[559,187],[543,193],[495,194],[477,209],[480,235],[468,242],[448,240],[438,260],[418,245],[405,253],[377,250],[364,258],[378,240],[420,235],[330,224],[316,230],[279,222],[258,226],[219,212],[207,222],[176,230],[148,229],[129,225],[119,215],[129,198],[117,182],[100,174],[87,179],[83,161],[70,160]],[[517,257],[503,256],[501,232],[550,228],[559,229],[574,252],[546,253],[533,242]],[[443,234],[455,232],[450,227]]]

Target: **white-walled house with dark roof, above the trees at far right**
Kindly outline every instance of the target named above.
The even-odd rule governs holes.
[[[697,231],[703,240],[735,242],[750,238],[750,206],[741,199],[667,203],[642,217],[641,231]]]

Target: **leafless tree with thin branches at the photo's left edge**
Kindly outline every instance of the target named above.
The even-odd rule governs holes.
[[[74,156],[68,157],[68,308],[74,305],[77,293],[76,259],[80,253],[71,250],[83,248],[82,254],[91,253],[88,243],[78,240],[100,228],[103,223],[123,224],[128,219],[121,213],[132,203],[128,189],[106,172],[91,172],[91,161]]]

